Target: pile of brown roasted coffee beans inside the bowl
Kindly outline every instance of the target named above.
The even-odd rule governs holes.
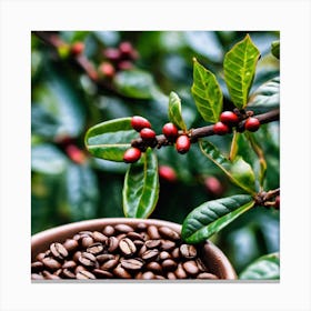
[[[31,263],[31,279],[218,279],[199,250],[165,225],[106,225],[51,243]]]

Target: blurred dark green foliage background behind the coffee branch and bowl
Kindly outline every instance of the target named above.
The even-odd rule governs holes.
[[[181,98],[187,127],[205,126],[191,97],[193,57],[215,73],[224,94],[223,109],[232,109],[222,62],[224,53],[245,36],[244,31],[42,33],[31,36],[32,233],[84,219],[123,217],[122,187],[127,164],[90,157],[83,143],[86,131],[102,121],[139,114],[148,118],[160,133],[168,122],[171,91]],[[279,60],[271,53],[271,43],[279,40],[279,33],[248,33],[261,52],[252,93],[279,76]],[[42,40],[44,38],[49,40]],[[70,47],[77,41],[84,43],[82,58],[98,73],[96,79],[77,61],[80,56],[70,53]],[[130,42],[138,58],[132,59],[131,68],[127,69],[116,69],[114,63],[116,73],[109,78],[100,67],[111,63],[106,51],[117,49],[121,42]],[[257,107],[253,109],[255,111]],[[258,109],[262,111],[262,107]],[[231,138],[210,137],[209,140],[228,152]],[[279,122],[262,126],[257,138],[262,142],[268,163],[265,190],[278,188]],[[202,202],[241,193],[201,156],[198,146],[183,156],[170,147],[157,153],[159,165],[173,168],[177,181],[160,178],[160,198],[151,218],[181,223]],[[208,180],[210,177],[220,181],[217,190],[212,189],[215,183],[211,181],[214,179]],[[279,214],[264,208],[254,209],[212,240],[239,272],[255,258],[279,250]]]

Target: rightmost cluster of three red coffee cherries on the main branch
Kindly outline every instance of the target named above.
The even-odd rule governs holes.
[[[233,127],[237,127],[239,131],[245,129],[250,132],[255,132],[260,128],[260,121],[250,114],[241,113],[240,111],[237,111],[237,113],[233,111],[223,111],[220,114],[220,121],[213,126],[213,131],[218,136],[224,136],[230,133]],[[238,128],[242,120],[245,120],[243,129]]]

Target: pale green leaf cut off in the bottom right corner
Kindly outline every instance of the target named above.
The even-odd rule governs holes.
[[[239,275],[241,280],[279,280],[280,255],[271,253],[260,257],[249,264]]]

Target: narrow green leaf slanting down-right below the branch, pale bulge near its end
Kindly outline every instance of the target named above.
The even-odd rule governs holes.
[[[203,154],[214,162],[235,185],[250,194],[255,194],[254,172],[249,163],[241,157],[235,157],[232,162],[229,161],[209,141],[201,140],[199,143]]]

